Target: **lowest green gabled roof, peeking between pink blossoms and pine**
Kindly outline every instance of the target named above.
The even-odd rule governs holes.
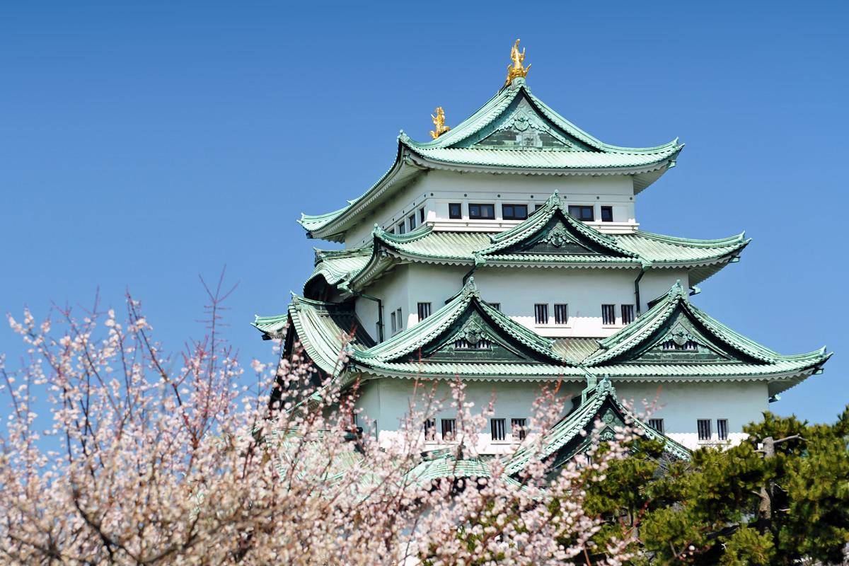
[[[518,474],[526,467],[531,459],[552,458],[554,471],[562,468],[576,454],[587,451],[593,442],[593,429],[596,420],[604,423],[599,430],[600,440],[613,440],[616,426],[624,423],[639,423],[643,429],[644,436],[649,440],[660,440],[665,442],[666,452],[673,457],[689,460],[690,451],[653,429],[647,423],[641,423],[637,415],[631,409],[621,404],[616,398],[616,389],[610,380],[604,378],[597,382],[595,378],[589,380],[588,388],[582,394],[582,403],[572,412],[566,415],[552,429],[543,433],[542,446],[537,449],[528,446],[516,451],[515,454],[505,462],[504,474]],[[586,434],[581,434],[584,431]]]

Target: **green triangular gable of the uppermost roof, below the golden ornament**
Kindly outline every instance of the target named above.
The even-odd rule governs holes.
[[[524,95],[516,96],[502,114],[481,131],[449,147],[597,151],[555,126]]]

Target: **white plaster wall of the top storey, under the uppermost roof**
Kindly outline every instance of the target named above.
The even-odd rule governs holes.
[[[442,229],[484,229],[500,232],[518,221],[503,221],[502,204],[543,205],[555,190],[566,205],[592,205],[596,219],[601,206],[613,207],[614,223],[636,227],[633,179],[628,175],[511,175],[492,173],[460,173],[459,171],[427,171],[403,188],[390,188],[391,195],[380,205],[360,214],[355,227],[348,230],[346,248],[368,243],[374,224],[386,230],[397,230],[399,222],[424,207],[425,221],[438,222]],[[464,218],[448,218],[448,203],[463,204]],[[495,221],[469,221],[469,202],[494,204]],[[606,228],[602,222],[593,227]],[[419,219],[417,217],[417,226]]]

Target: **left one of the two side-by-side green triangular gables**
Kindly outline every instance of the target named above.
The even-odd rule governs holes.
[[[420,359],[572,365],[554,353],[551,340],[487,305],[474,277],[469,277],[459,294],[424,321],[367,351],[351,352],[351,357],[364,364]]]

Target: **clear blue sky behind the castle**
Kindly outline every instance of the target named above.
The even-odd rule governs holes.
[[[198,275],[227,264],[228,338],[268,360],[254,314],[284,312],[312,245],[334,247],[304,238],[301,212],[363,193],[437,105],[449,126],[473,112],[520,37],[529,86],[577,126],[687,143],[638,221],[754,238],[694,302],[782,353],[835,350],[772,405],[832,420],[849,403],[847,6],[7,0],[0,311],[41,317],[98,287],[121,307],[128,285],[177,350],[203,332]]]

